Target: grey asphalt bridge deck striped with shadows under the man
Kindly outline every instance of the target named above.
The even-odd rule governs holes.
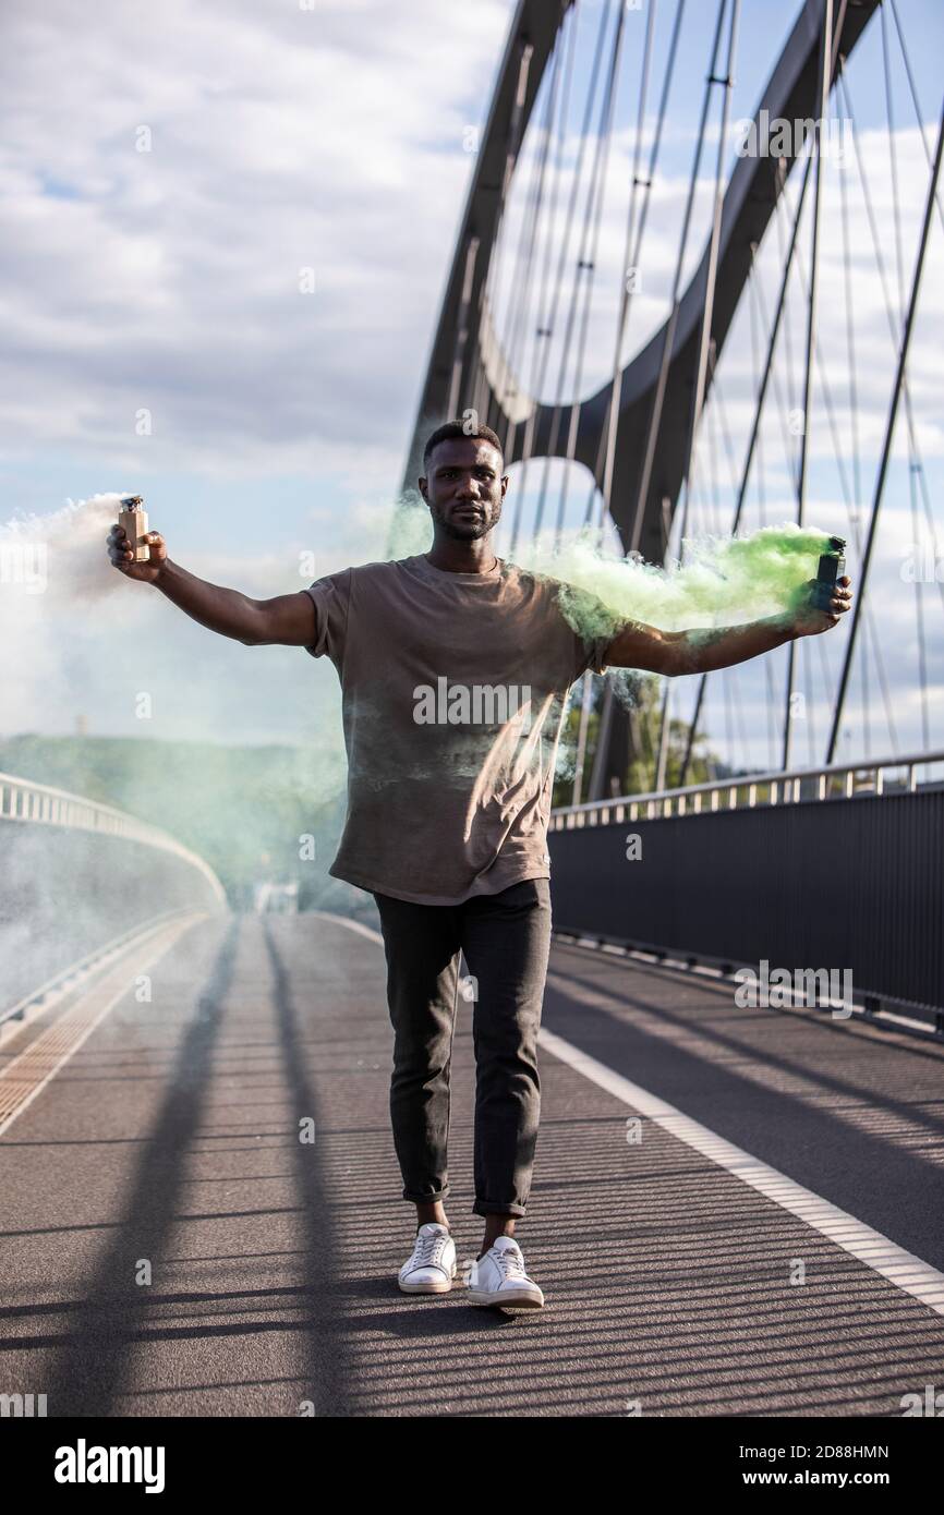
[[[138,971],[129,970],[129,977]],[[547,1306],[412,1298],[380,947],[318,917],[192,927],[0,1138],[0,1391],[50,1415],[889,1415],[942,1382],[932,1307],[544,1051]],[[88,991],[94,992],[94,991]],[[52,1015],[5,1041],[12,1059]],[[545,1027],[944,1270],[944,1050],[556,945]],[[564,1042],[555,1044],[565,1053]],[[471,1006],[450,1221],[471,1215]],[[315,1120],[314,1145],[299,1121]],[[721,1151],[723,1147],[718,1148]],[[786,1186],[788,1188],[788,1186]],[[148,1283],[136,1283],[141,1260]],[[791,1285],[802,1259],[806,1283]],[[944,1282],[944,1280],[942,1280]],[[944,1300],[944,1297],[942,1297]]]

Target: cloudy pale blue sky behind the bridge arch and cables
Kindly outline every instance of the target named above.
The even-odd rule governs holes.
[[[588,56],[600,0],[585,0],[583,9],[588,30],[579,59]],[[680,65],[636,342],[665,318],[673,224],[705,71],[699,27],[705,30],[708,9],[694,8],[702,20],[692,23]],[[752,114],[796,9],[746,0],[732,118]],[[941,8],[935,0],[899,0],[899,9],[933,142]],[[289,0],[165,0],[152,8],[98,0],[85,11],[65,0],[42,8],[8,0],[0,58],[0,520],[42,518],[33,535],[48,541],[50,591],[24,597],[14,585],[0,586],[3,630],[18,641],[3,735],[71,732],[82,715],[91,732],[265,742],[309,739],[324,721],[336,721],[336,676],[326,662],[302,650],[244,648],[214,638],[114,573],[94,582],[102,521],[70,511],[67,501],[108,491],[142,494],[173,558],[250,594],[309,582],[299,576],[300,554],[314,554],[312,577],[383,554],[474,164],[468,129],[485,120],[512,14],[512,0],[317,0],[311,8]],[[609,170],[617,189],[632,153],[641,26],[642,17],[627,20],[626,98]],[[873,47],[861,79],[850,70],[850,80],[886,226],[882,194],[889,191],[879,188],[877,170],[880,152],[888,152],[879,58]],[[905,98],[899,80],[896,141],[909,270],[926,165]],[[568,152],[576,152],[576,139]],[[709,153],[702,218],[712,170]],[[512,206],[509,227],[514,214]],[[861,424],[868,495],[894,348],[862,208],[853,205],[852,215],[856,301],[865,314]],[[830,227],[823,301],[829,348],[841,341],[841,258],[836,223]],[[939,224],[935,238],[923,312],[929,326],[941,317]],[[702,245],[699,235],[692,259]],[[886,253],[894,258],[891,244]],[[620,259],[614,215],[600,268],[618,276]],[[611,361],[606,300],[594,306],[592,323],[583,392],[602,382]],[[746,326],[741,338],[726,359],[735,432],[750,415]],[[927,476],[939,495],[944,442],[935,364],[935,345],[924,342],[912,383]],[[835,409],[847,435],[846,392],[836,394]],[[782,498],[789,515],[776,418],[771,426],[771,508],[776,512]],[[814,503],[821,524],[838,529],[839,491],[826,462],[824,427],[811,445],[824,459],[814,476]],[[729,479],[715,494],[718,488],[730,498]],[[711,506],[708,491],[703,529],[711,527]],[[897,521],[896,509],[905,512]],[[914,608],[892,564],[908,529],[903,495],[891,501],[889,520],[885,614],[914,674]],[[944,539],[944,523],[939,529]],[[62,580],[71,573],[71,542],[85,553],[83,588],[74,594]],[[103,542],[102,564],[106,570]],[[939,709],[944,620],[935,594],[927,586]],[[153,694],[147,730],[135,714],[142,685]],[[912,732],[915,712],[912,701]],[[724,736],[723,721],[718,730]],[[936,735],[944,741],[939,717]]]

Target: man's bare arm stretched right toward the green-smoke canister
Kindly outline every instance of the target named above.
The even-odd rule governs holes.
[[[811,580],[811,583],[815,580]],[[782,647],[797,636],[817,636],[839,624],[852,604],[852,579],[839,579],[829,611],[803,606],[794,612],[770,615],[747,626],[709,630],[661,632],[655,626],[630,621],[609,644],[605,662],[611,668],[642,668],[670,677],[686,673],[714,673],[730,668]]]

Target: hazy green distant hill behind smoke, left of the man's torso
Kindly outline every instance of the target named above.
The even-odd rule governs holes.
[[[252,909],[256,883],[297,880],[302,909],[376,918],[370,895],[327,874],[344,792],[336,771],[326,792],[317,751],[23,735],[0,738],[0,771],[115,804],[170,832],[206,857],[233,909]],[[306,835],[315,839],[314,861],[300,857]]]

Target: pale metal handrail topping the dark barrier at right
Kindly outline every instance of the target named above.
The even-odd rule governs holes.
[[[944,764],[944,751],[912,753],[906,758],[868,758],[864,762],[830,764],[821,768],[796,768],[791,773],[750,773],[692,783],[683,789],[656,789],[650,794],[614,795],[564,804],[550,814],[550,830],[582,826],[609,826],[612,821],[662,820],[673,815],[700,815],[718,811],[753,811],[764,804],[797,804],[800,800],[850,800],[856,795],[914,794],[917,770]],[[903,774],[899,783],[888,773]]]

